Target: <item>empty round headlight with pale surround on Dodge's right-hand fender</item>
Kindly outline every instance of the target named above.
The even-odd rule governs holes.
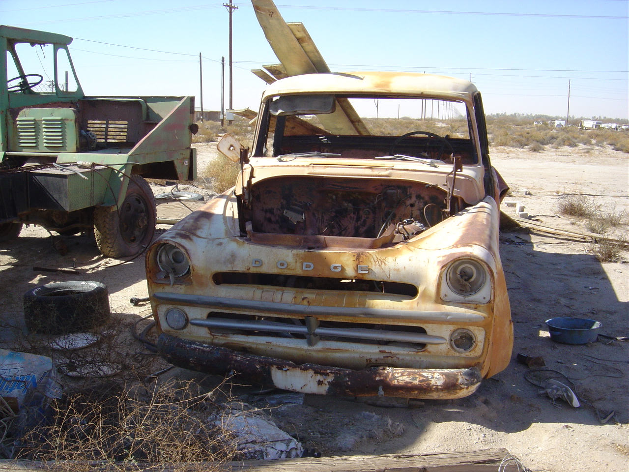
[[[487,266],[476,259],[455,259],[443,271],[441,298],[446,301],[488,303],[491,300],[491,276]]]

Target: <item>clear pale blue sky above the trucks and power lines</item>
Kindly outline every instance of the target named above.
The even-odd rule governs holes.
[[[223,3],[0,0],[0,23],[75,38],[70,50],[89,95],[194,95],[199,105],[201,53],[203,105],[219,110],[220,61],[228,59]],[[257,110],[265,84],[249,70],[277,59],[251,3],[233,3],[233,104]],[[629,116],[628,0],[276,5],[284,20],[304,23],[333,71],[471,74],[486,113],[565,116],[570,81],[571,116]]]

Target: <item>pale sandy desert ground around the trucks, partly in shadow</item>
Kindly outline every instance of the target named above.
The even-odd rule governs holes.
[[[200,169],[212,155],[211,145],[199,145]],[[628,210],[626,154],[584,148],[540,153],[498,148],[492,159],[514,188],[507,200],[523,203],[544,224],[586,232],[581,222],[557,215],[563,193],[600,195],[593,198],[602,208]],[[515,209],[503,210],[513,215]],[[503,233],[501,242],[515,327],[513,359],[476,394],[456,401],[422,402],[414,408],[307,395],[303,404],[273,408],[272,419],[304,446],[326,456],[505,447],[533,471],[626,471],[628,343],[599,337],[599,342],[582,346],[559,344],[550,340],[544,322],[557,316],[587,317],[603,323],[603,334],[629,335],[628,254],[624,252],[621,261],[601,263],[586,243],[528,232]],[[45,283],[103,282],[114,313],[131,320],[148,313],[147,305],[129,302],[132,296],[147,295],[142,258],[120,266],[99,256],[87,237],[70,237],[67,244],[69,252],[60,256],[47,232],[28,227],[16,242],[0,246],[3,342],[13,336],[9,326],[23,326],[25,291]],[[33,270],[37,266],[76,267],[81,274]],[[582,407],[561,401],[554,405],[538,395],[538,387],[525,378],[528,367],[516,362],[518,353],[542,356],[545,369],[572,381]],[[218,381],[183,369],[172,369],[169,375],[197,379],[208,388]],[[251,389],[235,386],[233,393],[259,405]],[[611,410],[615,417],[601,424],[597,412],[606,415]]]

